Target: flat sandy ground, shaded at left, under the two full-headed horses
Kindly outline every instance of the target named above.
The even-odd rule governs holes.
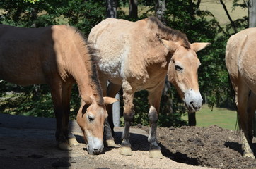
[[[98,156],[89,155],[81,130],[76,122],[71,124],[80,144],[72,151],[60,151],[54,140],[54,119],[0,114],[0,168],[201,168],[168,157],[149,158],[148,133],[139,128],[131,130],[132,156],[120,155],[118,148],[105,148],[104,154]],[[122,130],[115,128],[117,142]]]

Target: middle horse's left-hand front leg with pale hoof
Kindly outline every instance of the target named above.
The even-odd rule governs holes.
[[[134,118],[134,91],[128,82],[123,84],[123,99],[124,99],[124,132],[122,132],[122,144],[120,148],[120,154],[131,156],[132,149],[129,142],[129,127]]]

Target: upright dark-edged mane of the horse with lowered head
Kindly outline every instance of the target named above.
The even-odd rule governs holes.
[[[86,38],[79,30],[75,29],[75,31],[75,37],[78,38],[80,42],[78,44],[81,45],[79,46],[80,54],[83,56],[83,61],[86,64],[86,68],[88,70],[89,85],[91,85],[93,89],[93,95],[95,96],[97,103],[99,105],[103,105],[103,92],[98,80],[97,65],[94,57],[97,50],[94,49],[90,44],[86,43]]]

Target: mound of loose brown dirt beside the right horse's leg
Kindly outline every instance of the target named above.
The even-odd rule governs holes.
[[[242,156],[240,133],[216,125],[160,127],[158,142],[164,156],[179,163],[223,169],[256,168],[255,160]]]

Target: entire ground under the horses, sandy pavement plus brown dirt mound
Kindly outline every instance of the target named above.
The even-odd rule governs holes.
[[[240,135],[217,126],[158,128],[158,142],[165,158],[149,158],[148,127],[132,127],[132,156],[119,149],[89,155],[75,121],[72,132],[80,143],[72,151],[60,151],[54,141],[55,120],[0,114],[0,168],[256,168],[241,155]],[[122,127],[115,127],[117,144]],[[254,144],[254,146],[256,146]]]

